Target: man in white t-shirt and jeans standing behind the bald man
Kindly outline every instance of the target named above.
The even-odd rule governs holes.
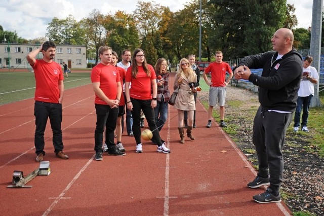
[[[308,110],[315,93],[314,84],[317,84],[318,73],[315,67],[310,66],[313,62],[313,57],[306,56],[303,64],[303,77],[298,90],[297,108],[294,118],[294,132],[299,130],[300,114],[302,115],[302,131],[309,132],[307,128]]]

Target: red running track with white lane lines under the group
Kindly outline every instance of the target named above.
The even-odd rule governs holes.
[[[174,73],[170,74],[170,86]],[[173,90],[171,90],[173,91]],[[258,204],[249,189],[256,175],[235,143],[197,102],[195,140],[180,144],[177,111],[169,106],[169,121],[161,130],[170,154],[156,152],[123,134],[127,155],[103,155],[94,160],[96,115],[91,85],[66,90],[63,101],[63,141],[68,160],[55,158],[52,132],[45,132],[45,160],[51,174],[36,176],[30,189],[8,189],[14,170],[24,175],[38,168],[33,144],[33,99],[0,106],[0,215],[290,215],[284,204]],[[145,122],[147,127],[147,123]],[[146,128],[145,127],[145,128]],[[144,128],[144,129],[145,129]],[[224,152],[225,151],[225,152]]]

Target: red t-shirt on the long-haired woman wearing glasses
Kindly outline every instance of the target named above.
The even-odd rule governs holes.
[[[127,69],[125,82],[131,82],[132,88],[130,89],[130,97],[139,100],[152,99],[151,93],[151,80],[156,79],[155,71],[152,65],[148,64],[151,71],[151,77],[147,77],[144,72],[143,66],[138,66],[138,73],[136,79],[132,78],[132,66]]]

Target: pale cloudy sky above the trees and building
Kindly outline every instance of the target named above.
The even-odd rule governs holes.
[[[150,2],[149,0],[144,1]],[[189,1],[155,0],[155,3],[167,6],[171,11],[176,12],[183,9],[184,5]],[[287,3],[295,5],[295,15],[298,19],[297,27],[308,28],[311,26],[311,0],[287,0]],[[98,9],[102,14],[109,13],[113,15],[117,10],[133,13],[136,5],[137,0],[1,0],[0,25],[3,26],[4,30],[16,31],[18,37],[32,40],[45,37],[48,23],[54,17],[65,19],[71,14],[75,20],[79,21],[88,17],[89,13],[94,9]]]

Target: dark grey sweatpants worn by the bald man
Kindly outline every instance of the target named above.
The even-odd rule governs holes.
[[[277,113],[259,107],[253,121],[253,145],[256,148],[261,177],[270,175],[270,189],[279,193],[284,170],[282,147],[292,113]]]

